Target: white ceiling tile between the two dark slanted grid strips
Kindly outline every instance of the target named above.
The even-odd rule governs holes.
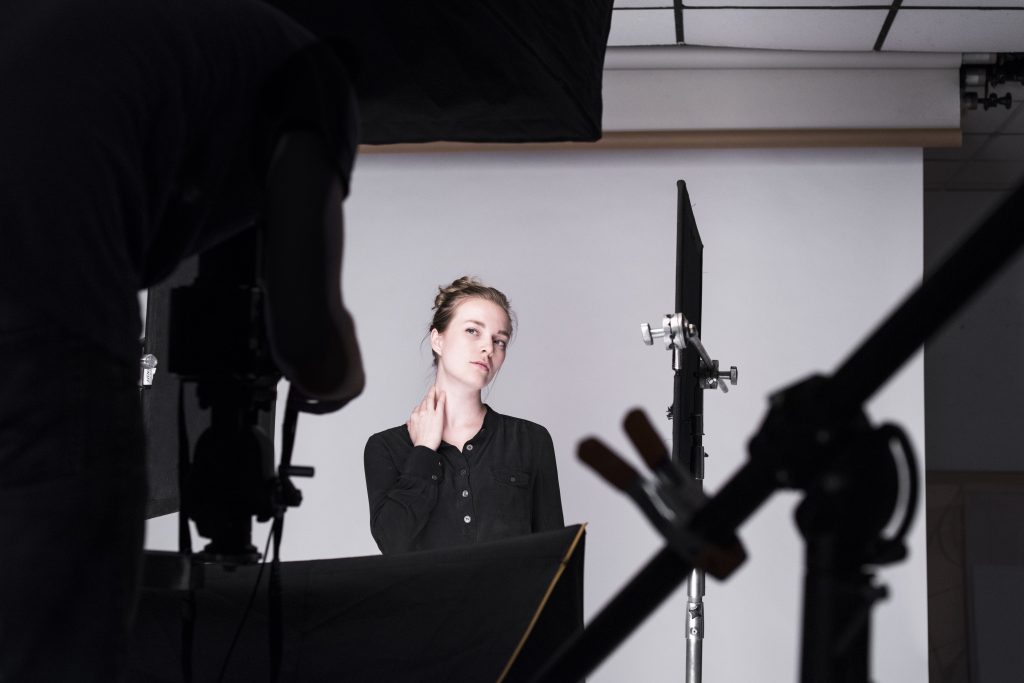
[[[688,45],[787,50],[870,50],[885,10],[686,9]]]

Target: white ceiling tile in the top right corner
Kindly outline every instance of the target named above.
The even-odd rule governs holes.
[[[924,52],[1024,51],[1024,11],[901,9],[883,48]]]

